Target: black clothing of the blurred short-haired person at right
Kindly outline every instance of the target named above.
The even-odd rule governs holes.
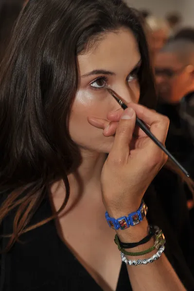
[[[170,119],[167,149],[194,179],[194,92],[177,104],[159,103],[157,111]]]

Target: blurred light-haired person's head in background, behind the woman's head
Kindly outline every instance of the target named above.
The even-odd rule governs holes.
[[[164,19],[158,18],[156,16],[146,17],[145,24],[151,58],[154,62],[157,53],[168,40],[170,35],[170,27]]]

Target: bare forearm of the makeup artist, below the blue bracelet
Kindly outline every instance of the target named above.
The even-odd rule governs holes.
[[[125,230],[118,230],[117,234],[122,242],[138,242],[147,235],[147,227],[148,223],[144,220],[137,226],[129,227]],[[152,239],[146,244],[133,248],[130,251],[141,252],[153,245],[154,240]],[[152,253],[138,258],[129,256],[126,256],[126,258],[131,260],[139,258],[147,259],[156,254],[156,252],[155,250]],[[127,265],[127,270],[133,291],[186,291],[164,254],[153,263],[139,266]]]

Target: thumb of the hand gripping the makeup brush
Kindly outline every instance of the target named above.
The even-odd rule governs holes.
[[[119,121],[115,134],[115,140],[111,149],[112,154],[120,162],[128,158],[130,153],[129,144],[131,142],[136,123],[136,113],[134,109],[127,108],[124,110]]]

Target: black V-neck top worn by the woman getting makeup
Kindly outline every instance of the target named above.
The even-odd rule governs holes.
[[[166,256],[187,290],[193,291],[194,241],[181,187],[176,175],[162,170],[144,199],[149,223],[161,227],[166,236]],[[51,213],[49,201],[44,200],[32,223],[49,217]],[[11,231],[12,223],[13,217],[9,215],[3,222],[3,233]],[[1,256],[0,291],[102,290],[60,240],[54,221],[23,234],[20,239],[25,243],[15,243],[9,253]],[[1,244],[5,246],[5,238]],[[117,291],[123,290],[132,290],[124,264],[117,286]]]

